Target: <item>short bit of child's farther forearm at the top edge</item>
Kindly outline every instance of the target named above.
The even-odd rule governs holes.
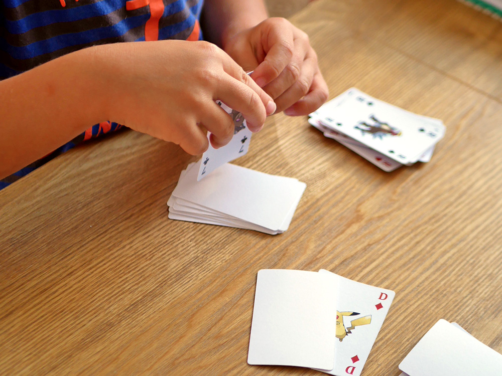
[[[229,38],[268,17],[263,0],[205,0],[202,12],[205,39],[223,49]]]

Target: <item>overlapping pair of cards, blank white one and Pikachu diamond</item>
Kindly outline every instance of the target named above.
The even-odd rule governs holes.
[[[359,376],[393,299],[327,270],[260,270],[247,362]]]

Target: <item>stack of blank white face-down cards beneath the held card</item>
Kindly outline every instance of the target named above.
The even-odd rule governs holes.
[[[269,175],[230,163],[218,167],[199,182],[197,173],[197,165],[191,164],[181,174],[168,201],[169,218],[186,217],[184,220],[201,222],[196,218],[203,215],[204,223],[221,224],[218,219],[222,219],[231,224],[235,220],[233,227],[241,227],[246,222],[258,225],[250,226],[258,231],[265,228],[269,230],[267,233],[284,232],[306,187],[291,177]],[[181,204],[186,207],[189,203],[193,209],[182,208],[185,213],[176,213],[178,199],[185,200]]]

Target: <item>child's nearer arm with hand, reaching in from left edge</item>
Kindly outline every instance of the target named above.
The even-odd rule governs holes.
[[[119,43],[70,53],[0,81],[0,178],[107,120],[191,154],[207,148],[205,129],[222,146],[233,123],[216,99],[242,112],[254,131],[275,110],[242,68],[207,42]]]

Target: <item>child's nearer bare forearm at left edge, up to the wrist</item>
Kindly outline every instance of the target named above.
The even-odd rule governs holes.
[[[0,178],[107,120],[102,88],[91,79],[91,49],[0,81]]]

